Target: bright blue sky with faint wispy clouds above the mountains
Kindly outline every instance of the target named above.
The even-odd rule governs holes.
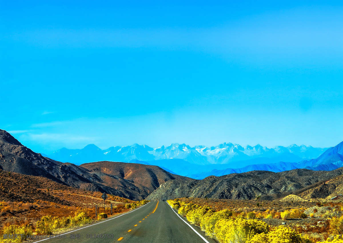
[[[343,141],[343,1],[0,1],[25,146]]]

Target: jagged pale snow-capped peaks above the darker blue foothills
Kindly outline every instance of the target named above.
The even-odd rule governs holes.
[[[298,162],[304,159],[313,159],[321,155],[327,148],[314,148],[312,146],[297,146],[295,144],[274,148],[262,147],[261,145],[242,147],[238,144],[223,143],[218,146],[190,147],[186,144],[171,144],[151,148],[146,145],[134,144],[132,146],[116,146],[102,150],[94,144],[87,145],[83,149],[62,148],[47,155],[51,159],[75,164],[94,161],[152,161],[164,159],[182,159],[197,165],[249,165],[263,162]],[[249,160],[252,160],[249,162]],[[233,163],[240,161],[239,164]],[[241,162],[246,161],[246,162]],[[238,168],[238,167],[237,167]]]

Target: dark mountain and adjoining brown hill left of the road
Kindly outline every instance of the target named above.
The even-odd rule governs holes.
[[[94,167],[91,164],[83,168],[43,157],[0,130],[0,169],[6,171],[42,176],[64,185],[134,200],[145,198],[160,183],[182,178],[157,166],[107,161],[95,163]]]

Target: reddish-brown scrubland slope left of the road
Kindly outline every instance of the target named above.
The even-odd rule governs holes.
[[[76,189],[43,177],[0,173],[0,243],[23,242],[27,235],[61,233],[149,202],[108,194],[104,212],[101,195],[101,192]],[[99,206],[97,219],[96,204]],[[4,235],[13,234],[20,236],[3,239]]]

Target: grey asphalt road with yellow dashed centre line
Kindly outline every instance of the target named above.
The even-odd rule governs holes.
[[[183,217],[182,217],[183,218]],[[185,219],[185,221],[187,221]],[[197,231],[198,234],[195,232]],[[201,236],[204,238],[202,239]],[[203,243],[215,241],[189,226],[167,202],[150,202],[121,216],[103,220],[61,235],[65,239],[45,239],[44,243]],[[92,237],[92,238],[91,238]],[[80,238],[80,239],[77,239]]]

